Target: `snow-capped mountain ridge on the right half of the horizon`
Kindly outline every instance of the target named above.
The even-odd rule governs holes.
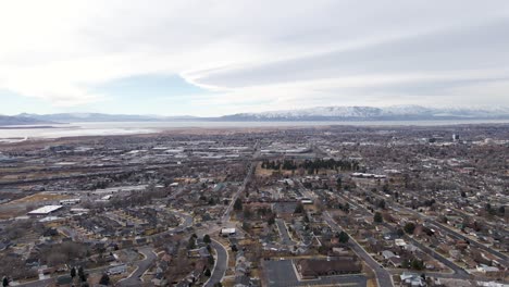
[[[239,113],[221,118],[232,121],[509,118],[509,108],[425,108],[421,105],[394,105],[387,108],[318,107],[262,113]]]

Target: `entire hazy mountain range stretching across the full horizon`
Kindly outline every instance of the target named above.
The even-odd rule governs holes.
[[[0,125],[37,125],[79,122],[270,122],[270,121],[423,121],[423,120],[500,120],[509,118],[509,108],[426,108],[421,105],[316,107],[261,113],[237,113],[219,117],[159,116],[102,113],[58,113],[0,115]]]

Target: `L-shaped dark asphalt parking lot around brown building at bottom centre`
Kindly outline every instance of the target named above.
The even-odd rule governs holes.
[[[319,277],[316,279],[299,280],[291,260],[263,261],[263,270],[266,272],[268,286],[367,286],[368,278],[363,274],[335,275]],[[385,286],[384,286],[385,287]]]

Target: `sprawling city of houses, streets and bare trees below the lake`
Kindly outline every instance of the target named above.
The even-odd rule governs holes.
[[[9,286],[509,284],[507,125],[0,145]]]

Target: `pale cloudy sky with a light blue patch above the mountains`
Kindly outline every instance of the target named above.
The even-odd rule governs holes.
[[[507,0],[0,3],[0,114],[509,107]]]

